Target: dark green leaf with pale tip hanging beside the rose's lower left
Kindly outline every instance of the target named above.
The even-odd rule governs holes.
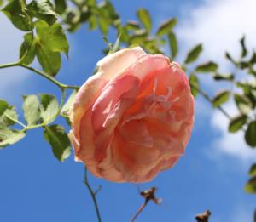
[[[44,128],[44,139],[52,147],[55,157],[63,162],[70,156],[70,142],[64,128],[61,125],[51,125]]]

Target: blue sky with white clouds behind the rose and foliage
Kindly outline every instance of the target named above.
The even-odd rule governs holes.
[[[180,43],[177,61],[183,60],[191,46],[202,42],[205,51],[201,60],[217,60],[225,71],[230,70],[230,65],[223,60],[224,50],[237,54],[237,40],[242,34],[247,35],[249,46],[255,48],[254,0],[159,0],[157,3],[115,0],[113,4],[123,20],[135,19],[138,7],[149,9],[154,26],[177,16]],[[3,14],[0,14],[0,28],[0,64],[3,64],[16,60],[22,33],[15,30]],[[96,61],[102,58],[105,43],[98,31],[87,31],[86,27],[68,35],[68,39],[70,59],[64,59],[57,78],[63,83],[81,85],[90,76]],[[0,97],[16,105],[18,111],[22,94],[59,94],[54,85],[28,71],[0,70],[0,75]],[[207,77],[203,83],[209,91],[216,88]],[[231,103],[227,108],[236,113]],[[206,209],[212,211],[212,222],[252,221],[255,196],[247,195],[243,185],[247,169],[255,161],[255,151],[247,148],[241,134],[227,134],[227,121],[203,99],[196,100],[195,110],[195,128],[185,155],[174,168],[140,185],[142,189],[157,186],[162,204],[149,203],[137,221],[194,221],[195,214]],[[57,122],[64,124],[61,119]],[[83,164],[74,162],[73,157],[58,162],[43,139],[42,129],[28,132],[18,144],[1,150],[0,169],[0,221],[96,221],[94,207],[83,185]],[[136,185],[114,184],[91,175],[90,181],[95,188],[102,185],[97,197],[103,221],[129,221],[143,202]]]

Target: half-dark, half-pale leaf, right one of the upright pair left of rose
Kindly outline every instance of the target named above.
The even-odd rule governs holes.
[[[59,110],[58,101],[52,94],[41,94],[41,117],[48,122],[57,115]]]

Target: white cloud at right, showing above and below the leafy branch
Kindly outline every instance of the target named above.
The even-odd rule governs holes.
[[[177,26],[177,37],[182,45],[181,54],[203,43],[203,60],[216,60],[221,69],[230,71],[230,64],[224,60],[224,52],[239,56],[238,40],[242,35],[247,37],[248,48],[256,48],[256,1],[255,0],[205,0],[200,6],[183,7],[180,26]],[[215,88],[212,81],[202,82],[207,88]],[[208,85],[211,83],[211,85]],[[218,84],[215,84],[218,85]],[[236,113],[235,105],[227,105],[230,114]],[[228,120],[218,110],[211,112],[212,127],[219,133],[218,139],[212,143],[212,150],[237,157],[245,162],[255,160],[256,152],[248,148],[243,133],[228,133]],[[213,149],[214,147],[214,149]]]

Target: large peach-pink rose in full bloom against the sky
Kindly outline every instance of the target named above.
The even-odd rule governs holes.
[[[138,47],[97,66],[69,111],[75,158],[96,177],[149,181],[188,144],[194,122],[188,78],[176,62]]]

